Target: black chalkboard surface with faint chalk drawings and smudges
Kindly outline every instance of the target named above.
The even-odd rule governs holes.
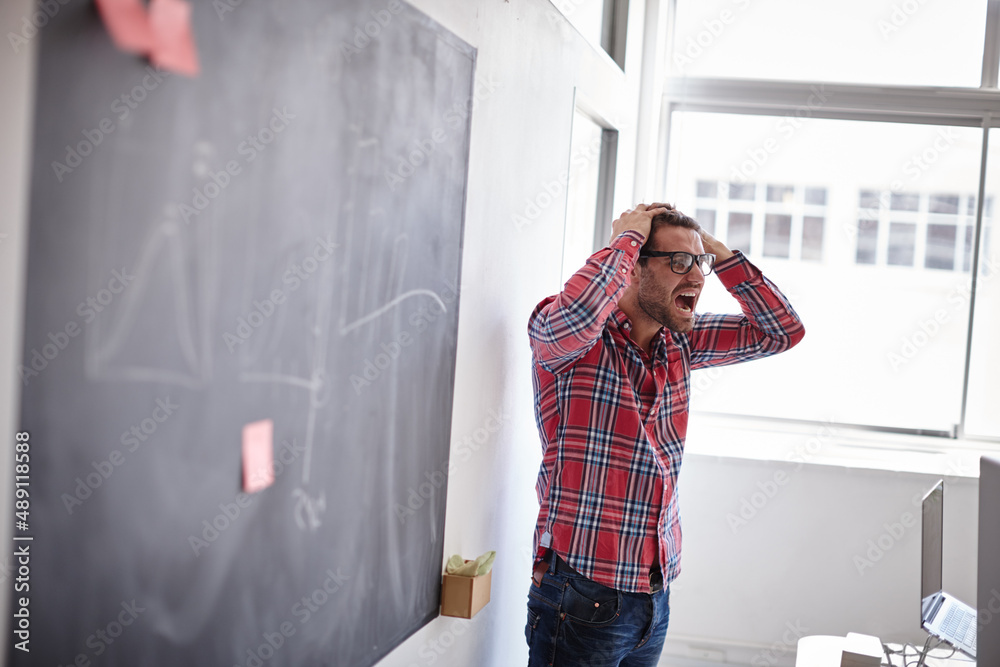
[[[371,665],[438,613],[475,51],[396,0],[192,25],[195,79],[89,3],[38,36],[10,655]]]

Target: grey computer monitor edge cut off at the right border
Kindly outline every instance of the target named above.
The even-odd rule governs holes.
[[[1000,457],[979,460],[977,664],[1000,665]]]

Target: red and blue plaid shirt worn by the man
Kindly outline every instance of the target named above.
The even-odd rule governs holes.
[[[598,583],[648,593],[657,556],[664,585],[680,573],[676,488],[691,371],[783,352],[805,329],[736,251],[715,272],[743,315],[697,314],[688,334],[661,328],[647,357],[617,307],[642,240],[625,232],[594,253],[538,304],[528,335],[543,452],[535,557],[552,549]]]

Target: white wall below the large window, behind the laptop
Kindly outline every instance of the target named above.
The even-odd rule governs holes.
[[[944,587],[975,605],[977,479],[806,461],[688,453],[682,574],[661,664],[694,647],[731,664],[793,665],[803,634],[922,644],[919,500],[942,477]]]

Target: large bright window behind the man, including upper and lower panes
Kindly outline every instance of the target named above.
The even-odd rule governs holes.
[[[692,407],[1000,442],[993,4],[670,6],[662,186],[810,331]],[[736,310],[712,288],[699,307]]]

